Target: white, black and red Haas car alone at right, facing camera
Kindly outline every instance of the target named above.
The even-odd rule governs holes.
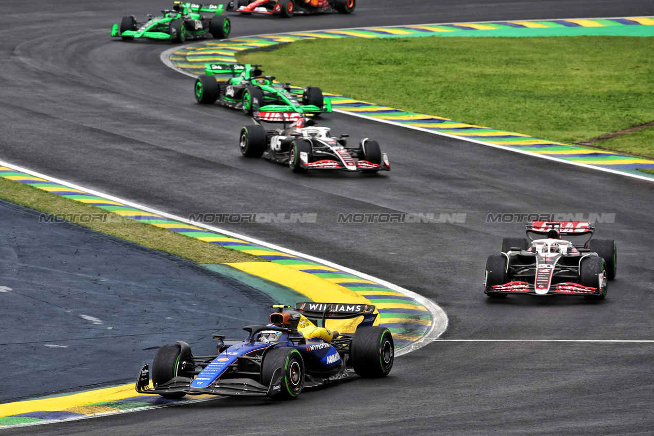
[[[485,293],[503,298],[511,293],[583,295],[604,299],[608,280],[615,278],[617,250],[612,239],[592,239],[589,222],[533,221],[525,238],[504,238],[502,253],[486,261]],[[532,239],[532,234],[543,239]],[[590,237],[574,244],[561,239]]]

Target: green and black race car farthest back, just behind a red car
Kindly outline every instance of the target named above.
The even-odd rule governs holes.
[[[198,5],[175,1],[173,9],[162,10],[163,16],[148,14],[148,21],[137,22],[133,15],[122,18],[119,24],[111,28],[112,37],[131,40],[135,38],[167,39],[184,42],[186,39],[205,38],[211,34],[214,38],[225,39],[230,36],[232,23],[226,16],[222,5]],[[204,16],[201,12],[209,12]]]

